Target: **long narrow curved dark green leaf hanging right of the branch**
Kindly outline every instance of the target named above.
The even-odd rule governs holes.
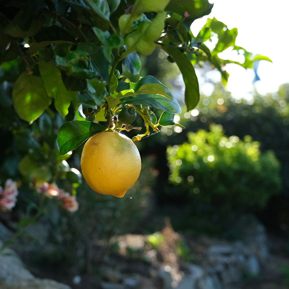
[[[176,47],[171,45],[158,45],[158,47],[166,51],[166,53],[171,56],[171,58],[176,62],[177,66],[179,67],[186,86],[185,103],[187,106],[187,110],[192,110],[197,106],[200,99],[199,82],[194,70],[194,66],[192,66],[190,60],[188,60],[186,55],[181,53],[181,51],[179,51],[179,49],[177,49]]]

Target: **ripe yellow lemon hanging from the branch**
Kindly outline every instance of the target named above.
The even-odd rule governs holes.
[[[81,154],[87,184],[100,194],[123,197],[140,175],[140,153],[123,134],[103,131],[92,136]]]

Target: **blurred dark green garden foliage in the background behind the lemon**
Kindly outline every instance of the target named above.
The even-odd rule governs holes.
[[[140,76],[153,75],[173,94],[182,94],[178,68],[164,61],[164,52],[156,49],[141,58]],[[23,64],[17,60],[5,62],[0,70],[0,180],[16,180],[21,191],[16,207],[1,213],[1,221],[20,230],[24,248],[37,251],[31,263],[65,262],[67,268],[89,271],[92,260],[100,262],[107,249],[99,245],[102,249],[93,255],[96,240],[129,232],[152,234],[162,229],[165,216],[188,236],[241,238],[234,225],[244,213],[255,214],[275,231],[288,232],[289,84],[274,94],[254,92],[251,99],[234,99],[213,83],[212,95],[202,95],[194,110],[184,109],[175,117],[184,129],[162,127],[136,143],[142,172],[126,197],[118,199],[96,194],[82,181],[82,146],[72,155],[58,153],[56,136],[65,121],[75,119],[73,105],[65,119],[53,103],[32,125],[17,116],[10,83],[19,65]],[[124,74],[136,81],[127,71]],[[137,118],[132,125],[140,123]],[[44,181],[76,195],[79,210],[59,210],[57,201],[41,196],[35,188]]]

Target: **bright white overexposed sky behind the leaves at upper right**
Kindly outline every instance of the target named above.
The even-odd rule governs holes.
[[[253,54],[268,56],[273,63],[261,61],[258,68],[260,81],[255,83],[257,91],[264,95],[275,92],[281,84],[289,83],[289,37],[288,37],[288,0],[209,0],[214,3],[212,13],[225,23],[229,29],[238,28],[236,45],[244,47]],[[197,35],[207,17],[193,23],[193,34]],[[196,28],[197,33],[194,33]],[[229,55],[219,55],[229,58]],[[241,66],[229,64],[226,70],[230,74],[227,90],[234,97],[246,97],[253,91],[253,71]],[[205,90],[205,88],[203,88]],[[202,90],[202,88],[201,88]]]

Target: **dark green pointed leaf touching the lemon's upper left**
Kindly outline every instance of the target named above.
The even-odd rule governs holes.
[[[76,149],[85,140],[104,130],[104,126],[90,121],[68,121],[64,123],[57,135],[60,155],[65,155]]]

